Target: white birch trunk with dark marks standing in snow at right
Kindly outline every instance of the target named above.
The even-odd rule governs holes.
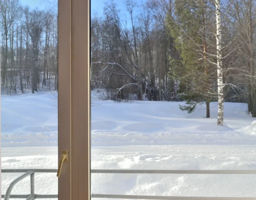
[[[217,42],[217,73],[218,73],[218,120],[217,125],[223,126],[224,94],[223,94],[223,69],[221,54],[221,10],[220,0],[215,0],[216,7],[216,42]]]

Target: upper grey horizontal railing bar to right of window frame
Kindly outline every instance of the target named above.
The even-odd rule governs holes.
[[[141,170],[141,169],[91,169],[97,174],[256,174],[256,170]]]

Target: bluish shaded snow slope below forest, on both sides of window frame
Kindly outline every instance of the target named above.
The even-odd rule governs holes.
[[[58,105],[55,92],[1,97],[2,146],[56,146]],[[173,144],[256,144],[253,118],[246,105],[224,104],[224,126],[216,126],[217,103],[211,118],[200,106],[192,114],[180,102],[115,103],[92,95],[92,146]]]

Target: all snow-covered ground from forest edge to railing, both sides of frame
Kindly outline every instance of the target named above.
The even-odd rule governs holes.
[[[92,169],[256,169],[256,123],[241,103],[224,104],[224,126],[204,107],[115,103],[92,94]],[[56,93],[1,97],[2,169],[57,169]],[[20,174],[2,174],[2,194]],[[57,194],[56,174],[35,174],[37,194]],[[255,197],[256,175],[92,174],[92,193]],[[12,194],[28,194],[29,178]]]

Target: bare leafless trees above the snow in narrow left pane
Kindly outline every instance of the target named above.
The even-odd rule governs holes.
[[[1,94],[58,90],[58,12],[49,5],[0,0]]]

